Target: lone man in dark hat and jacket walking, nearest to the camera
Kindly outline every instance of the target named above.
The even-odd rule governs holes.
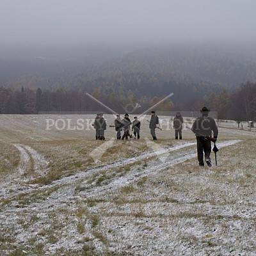
[[[213,137],[217,140],[218,137],[218,127],[213,118],[208,116],[210,110],[206,107],[200,110],[202,116],[197,117],[195,122],[193,123],[191,130],[196,135],[196,145],[197,145],[197,158],[200,166],[204,166],[204,154],[205,154],[205,162],[208,166],[212,166],[211,164],[211,140],[208,138]]]

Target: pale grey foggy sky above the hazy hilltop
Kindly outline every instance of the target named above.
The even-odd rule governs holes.
[[[0,45],[256,41],[255,0],[0,0]]]

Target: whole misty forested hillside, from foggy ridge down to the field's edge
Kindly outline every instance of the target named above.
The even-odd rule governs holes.
[[[161,45],[130,52],[115,52],[115,48],[90,50],[1,58],[1,113],[99,109],[86,92],[115,111],[136,102],[143,111],[173,92],[172,102],[167,100],[159,109],[196,110],[208,104],[220,112],[220,118],[255,117],[253,46]],[[247,99],[247,105],[238,97],[239,93],[247,97],[242,93],[244,86],[252,98]]]

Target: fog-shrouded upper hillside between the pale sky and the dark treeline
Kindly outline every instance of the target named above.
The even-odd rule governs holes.
[[[9,48],[1,52],[0,82],[4,87],[20,88],[17,82],[20,77],[42,76],[47,82],[34,84],[33,88],[54,89],[55,83],[68,79],[63,83],[65,89],[94,90],[122,76],[139,76],[138,79],[154,76],[156,83],[161,80],[186,84],[204,82],[233,88],[247,80],[256,81],[255,47],[245,46],[162,44]],[[90,84],[92,79],[97,84]],[[132,88],[132,84],[126,85]]]

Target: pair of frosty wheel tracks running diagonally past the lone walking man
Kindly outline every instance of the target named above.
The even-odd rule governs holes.
[[[223,148],[227,147],[230,145],[234,145],[236,143],[239,143],[241,140],[229,140],[229,141],[221,141],[218,143],[218,148]],[[177,149],[182,149],[186,147],[190,147],[191,145],[195,145],[195,143],[188,142],[188,143],[182,143],[181,145],[176,145],[175,147],[170,147],[168,148],[168,152],[175,152]],[[80,196],[94,196],[94,195],[99,195],[100,193],[105,193],[106,191],[109,191],[109,189],[116,189],[116,188],[121,188],[122,186],[127,186],[131,184],[131,182],[136,182],[136,180],[141,179],[142,177],[145,177],[147,175],[155,175],[158,172],[163,171],[166,168],[169,168],[175,164],[182,163],[188,159],[192,159],[196,157],[196,152],[195,148],[190,148],[186,150],[185,152],[177,152],[177,154],[170,154],[168,159],[166,159],[165,162],[159,163],[161,161],[150,162],[150,165],[148,166],[147,169],[145,170],[133,170],[131,172],[127,172],[124,176],[122,177],[115,177],[115,179],[111,180],[106,185],[103,186],[93,186],[92,188],[88,188],[86,192],[81,192]],[[162,151],[163,154],[166,154],[166,150]],[[83,181],[84,178],[90,177],[91,175],[95,173],[100,173],[104,172],[106,170],[111,170],[113,168],[120,168],[122,166],[125,166],[127,164],[133,164],[136,163],[137,161],[141,161],[142,159],[147,159],[150,156],[154,156],[156,152],[148,152],[145,154],[142,154],[137,157],[131,157],[129,159],[125,159],[125,161],[118,161],[117,163],[111,163],[108,164],[108,166],[100,166],[97,168],[92,168],[91,170],[88,170],[87,172],[80,172],[76,173],[76,175],[72,175],[69,177],[63,177],[60,180],[55,180],[52,182],[52,184],[45,185],[45,186],[40,186],[37,188],[27,188],[24,189],[23,191],[19,191],[18,193],[12,193],[11,196],[17,196],[20,193],[32,193],[35,191],[43,191],[45,189],[51,189],[54,187],[61,187],[65,186],[63,188],[63,192],[59,191],[57,197],[49,197],[49,204],[55,204],[56,202],[61,202],[61,201],[66,201],[67,200],[67,193],[70,193],[70,197],[74,197],[74,185],[78,184],[79,181]],[[84,182],[86,184],[86,181]],[[68,192],[69,191],[69,192]],[[62,193],[65,194],[62,196]],[[9,196],[10,197],[10,196]],[[75,196],[76,197],[76,196]],[[47,198],[48,199],[48,198]],[[61,205],[61,204],[60,204]]]

